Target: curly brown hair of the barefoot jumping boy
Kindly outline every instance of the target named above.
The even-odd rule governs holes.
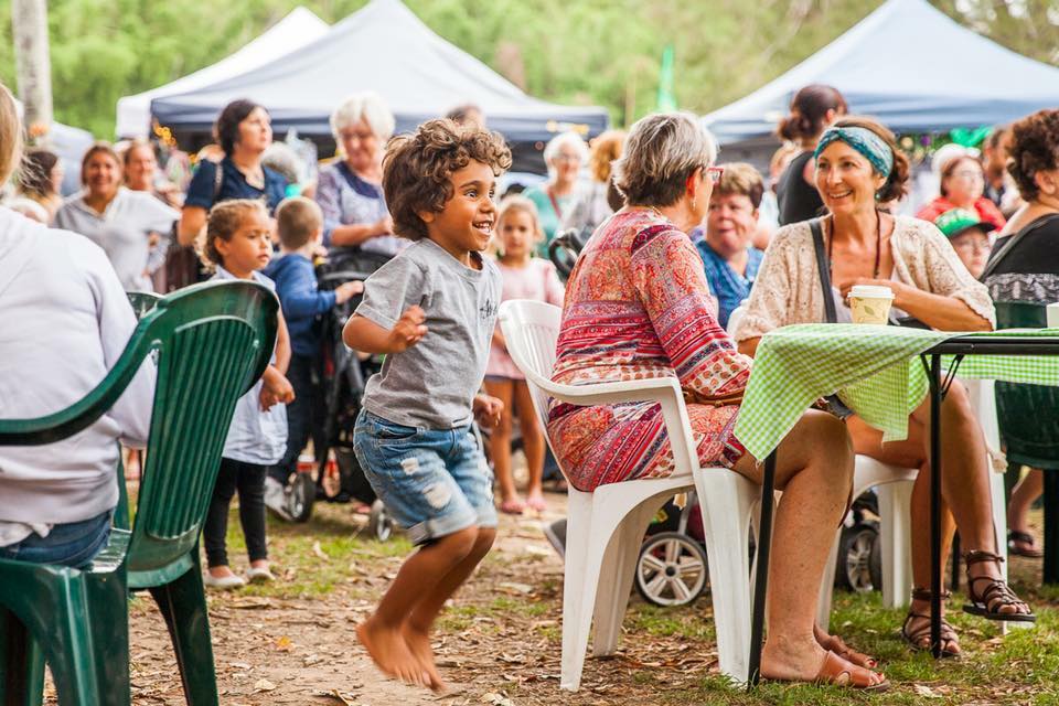
[[[397,235],[413,240],[427,237],[427,224],[419,214],[445,208],[453,195],[452,172],[471,160],[488,164],[499,176],[511,168],[511,150],[498,132],[448,119],[428,120],[414,133],[389,140],[383,158],[383,192]]]

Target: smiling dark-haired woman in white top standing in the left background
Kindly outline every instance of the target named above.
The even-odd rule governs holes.
[[[82,160],[84,190],[55,214],[55,226],[81,233],[110,258],[128,291],[152,291],[151,275],[165,263],[169,234],[180,213],[145,191],[121,185],[121,161],[106,142]]]

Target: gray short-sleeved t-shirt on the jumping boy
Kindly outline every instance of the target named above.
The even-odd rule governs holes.
[[[500,270],[472,253],[471,269],[434,240],[405,248],[364,282],[356,314],[393,329],[419,306],[427,335],[404,353],[386,356],[372,375],[364,408],[395,424],[452,429],[471,422],[471,404],[485,376],[489,344],[500,306]]]

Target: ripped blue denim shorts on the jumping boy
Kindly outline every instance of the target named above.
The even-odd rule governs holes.
[[[406,427],[362,409],[353,449],[375,494],[413,544],[496,526],[493,473],[469,426]]]

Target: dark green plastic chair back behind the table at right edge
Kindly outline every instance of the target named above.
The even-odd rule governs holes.
[[[997,301],[997,329],[1042,329],[1045,304]],[[996,384],[996,413],[1007,459],[1034,468],[1059,469],[1059,388]]]

